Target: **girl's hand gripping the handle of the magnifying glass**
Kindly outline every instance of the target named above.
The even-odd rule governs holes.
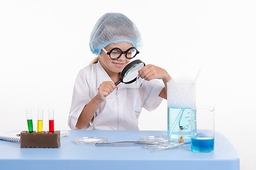
[[[119,84],[117,86],[114,85],[112,81],[104,81],[102,84],[100,84],[100,87],[98,89],[97,93],[97,100],[101,103],[106,100],[107,96],[109,96],[114,89],[118,88]]]

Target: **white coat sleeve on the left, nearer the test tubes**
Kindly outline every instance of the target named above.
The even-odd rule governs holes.
[[[86,81],[85,72],[84,70],[80,70],[78,77],[75,80],[73,98],[68,118],[68,126],[71,130],[76,130],[75,125],[82,113],[82,109],[92,100],[89,93],[90,89]]]

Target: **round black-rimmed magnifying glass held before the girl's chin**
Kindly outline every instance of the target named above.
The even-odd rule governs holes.
[[[138,70],[142,69],[145,66],[142,60],[134,60],[127,64],[126,67],[122,70],[119,81],[117,81],[114,85],[117,86],[119,83],[131,84],[136,81],[138,77]]]

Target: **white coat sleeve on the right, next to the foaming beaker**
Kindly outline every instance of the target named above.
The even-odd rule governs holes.
[[[156,79],[144,81],[139,90],[139,94],[142,97],[142,107],[147,111],[156,109],[163,101],[163,98],[159,97],[163,88],[164,84]]]

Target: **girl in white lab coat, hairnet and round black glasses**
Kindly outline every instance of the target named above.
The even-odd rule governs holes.
[[[152,64],[139,70],[142,84],[114,85],[120,72],[137,57],[141,35],[121,13],[105,13],[90,36],[90,50],[98,55],[78,73],[68,125],[72,130],[139,130],[142,108],[152,111],[166,98],[166,70]],[[162,79],[161,81],[156,79]]]

